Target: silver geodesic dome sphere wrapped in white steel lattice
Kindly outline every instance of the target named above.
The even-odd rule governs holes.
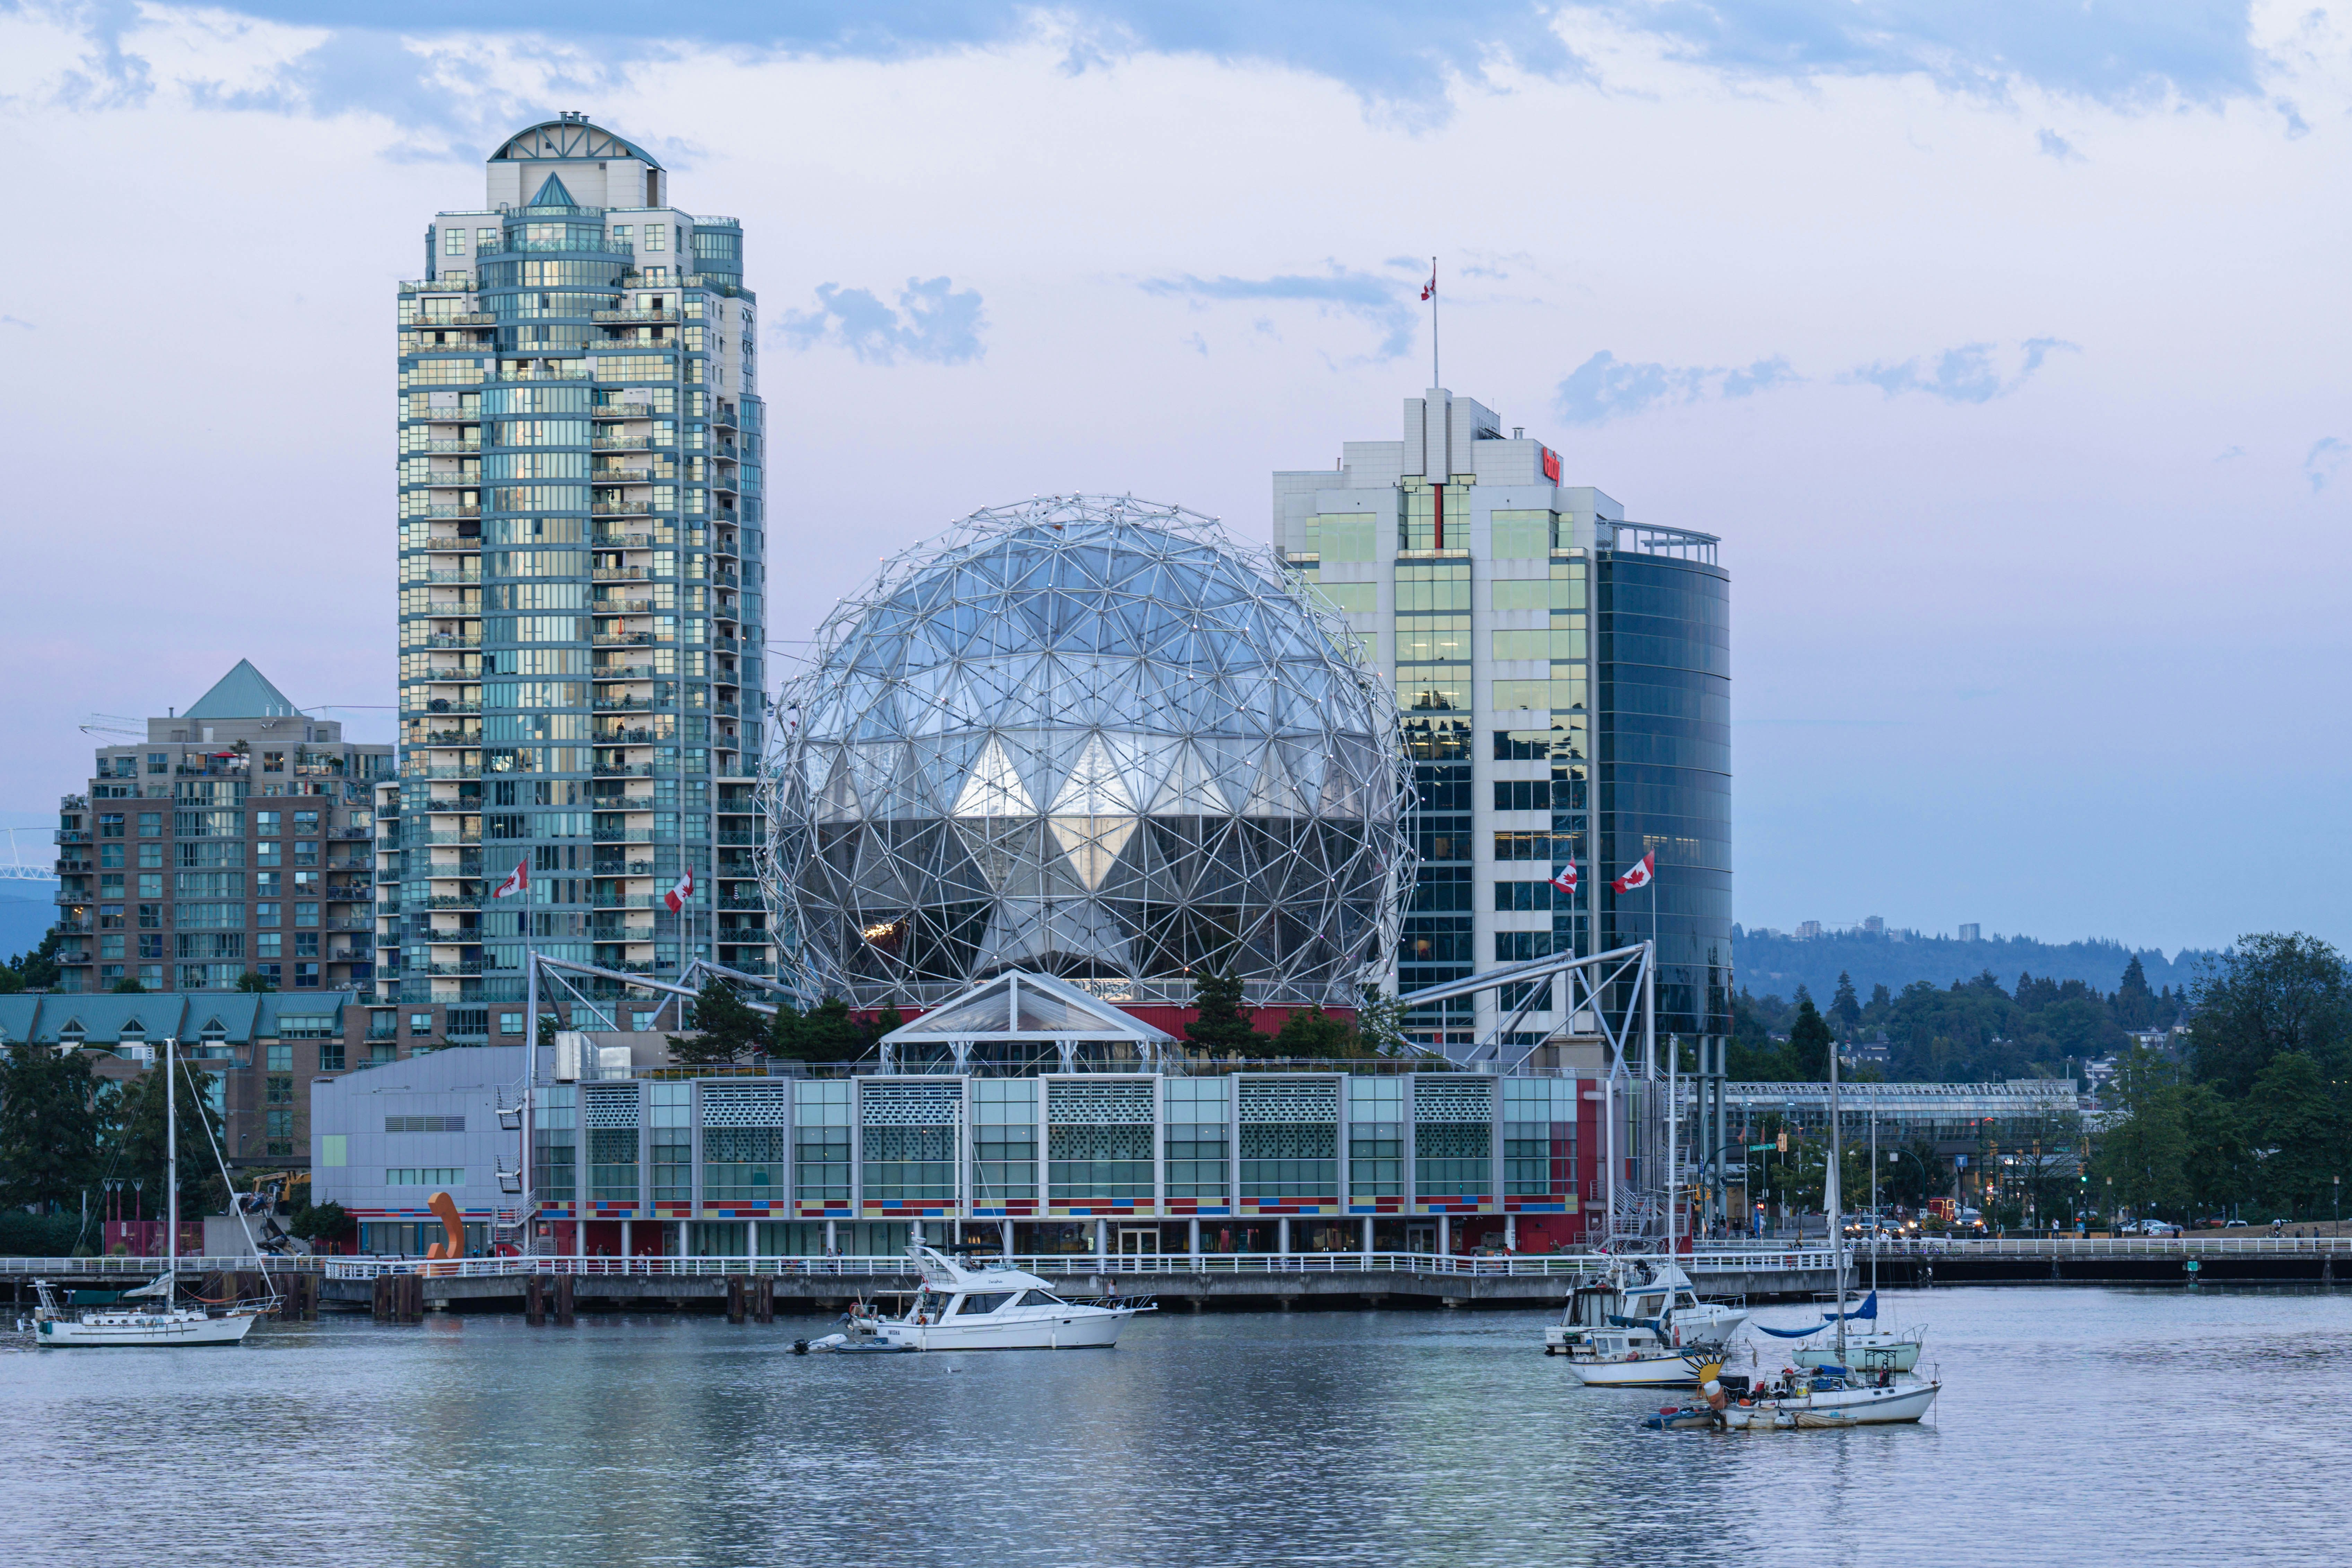
[[[1211,517],[974,512],[826,618],[779,719],[760,875],[809,990],[931,1006],[1030,969],[1185,1004],[1230,969],[1350,1004],[1395,952],[1395,696]]]

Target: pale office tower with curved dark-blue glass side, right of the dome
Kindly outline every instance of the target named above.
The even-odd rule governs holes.
[[[1404,400],[1404,440],[1348,442],[1336,473],[1275,475],[1275,545],[1397,682],[1421,851],[1399,990],[1656,931],[1661,1032],[1729,1034],[1717,541],[1625,522],[1602,491],[1562,484],[1557,451],[1430,388]],[[1611,891],[1646,853],[1656,884]],[[1573,898],[1552,882],[1571,863]],[[1461,1001],[1414,1032],[1465,1044],[1496,1023]],[[1566,1023],[1538,1006],[1512,1044]]]

